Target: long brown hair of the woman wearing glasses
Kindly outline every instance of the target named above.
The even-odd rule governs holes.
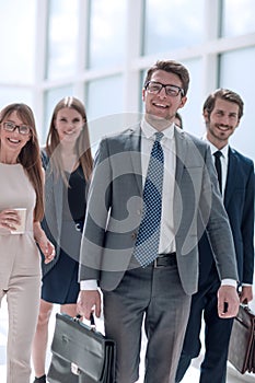
[[[22,148],[18,161],[24,167],[36,194],[34,220],[40,221],[44,217],[44,174],[40,161],[38,136],[35,127],[35,118],[32,109],[26,104],[14,103],[7,105],[0,113],[0,124],[16,112],[24,125],[31,128],[31,139]]]

